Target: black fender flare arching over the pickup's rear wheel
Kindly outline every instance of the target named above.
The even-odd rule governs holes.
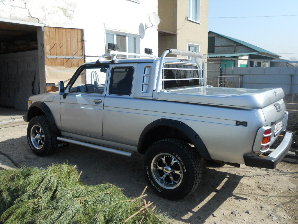
[[[198,154],[200,157],[203,159],[212,159],[210,157],[210,154],[206,148],[206,145],[200,138],[200,136],[192,129],[190,126],[187,124],[177,121],[177,120],[172,120],[172,119],[158,119],[153,122],[151,122],[149,125],[147,125],[144,130],[142,131],[142,134],[139,137],[139,142],[138,142],[138,152],[142,150],[142,145],[143,141],[145,139],[146,134],[152,130],[153,128],[159,127],[159,126],[166,126],[166,127],[172,127],[176,128],[179,131],[183,132],[193,143],[195,146]]]

